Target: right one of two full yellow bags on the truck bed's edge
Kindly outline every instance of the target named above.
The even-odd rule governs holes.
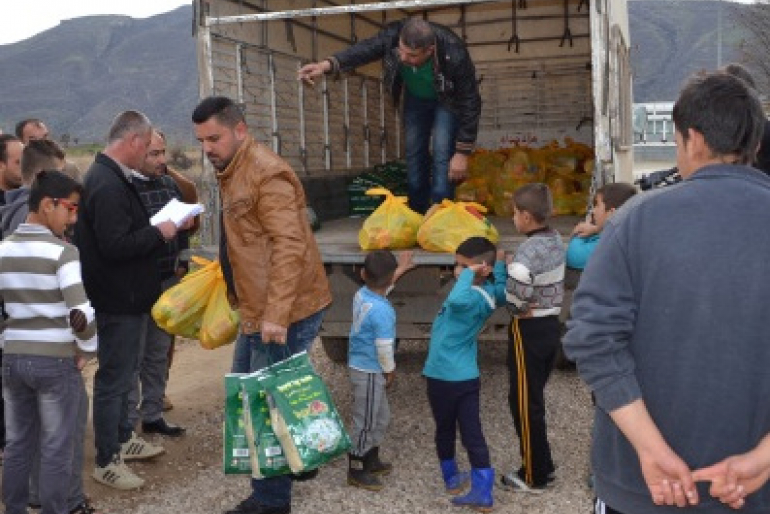
[[[428,211],[429,216],[417,233],[417,242],[430,252],[452,252],[473,236],[500,240],[497,229],[484,217],[487,208],[473,202],[444,200]]]

